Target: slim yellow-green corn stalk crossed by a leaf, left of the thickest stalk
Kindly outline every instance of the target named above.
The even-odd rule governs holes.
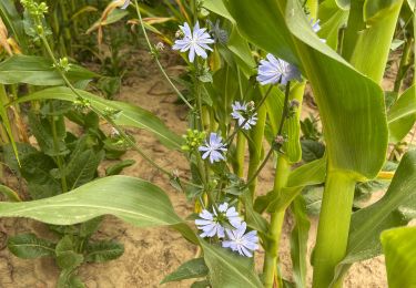
[[[284,155],[277,156],[276,174],[274,176],[273,191],[281,195],[282,188],[286,186],[287,178],[290,175],[291,165]],[[278,196],[277,196],[278,197]],[[285,212],[276,212],[271,215],[271,226],[268,230],[268,246],[264,257],[264,286],[266,288],[274,287],[275,278],[277,276],[277,259],[278,259],[278,246],[282,234],[282,226],[284,220]]]

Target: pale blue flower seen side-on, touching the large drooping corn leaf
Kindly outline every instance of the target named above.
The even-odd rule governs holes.
[[[257,81],[262,85],[281,83],[286,85],[288,81],[301,80],[301,72],[295,65],[272,54],[266,55],[267,60],[260,61]]]

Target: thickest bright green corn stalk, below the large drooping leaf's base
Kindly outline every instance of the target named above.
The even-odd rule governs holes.
[[[345,172],[328,171],[313,257],[313,287],[329,287],[335,267],[345,257],[355,179]],[[342,287],[342,279],[333,287]]]

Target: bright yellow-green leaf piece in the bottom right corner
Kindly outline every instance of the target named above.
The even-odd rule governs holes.
[[[388,287],[416,287],[416,227],[386,230],[382,244]]]

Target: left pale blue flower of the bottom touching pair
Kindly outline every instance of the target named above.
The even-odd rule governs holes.
[[[200,219],[195,220],[196,227],[202,230],[201,237],[214,237],[224,238],[224,224],[230,224],[233,227],[240,227],[242,219],[235,207],[230,207],[227,203],[223,203],[219,206],[216,210],[213,208],[213,213],[203,209],[200,213]]]

